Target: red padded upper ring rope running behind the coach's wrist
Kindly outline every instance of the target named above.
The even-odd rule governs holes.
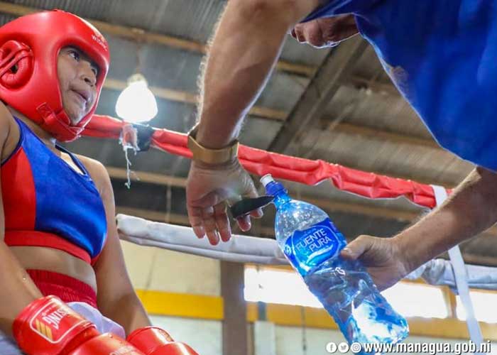
[[[83,135],[119,138],[125,125],[126,122],[111,116],[94,115]],[[192,158],[192,153],[187,148],[187,135],[184,133],[154,129],[152,146],[168,153]],[[271,174],[277,179],[306,185],[316,185],[331,179],[337,189],[371,199],[403,196],[422,207],[432,209],[437,205],[432,187],[412,180],[366,173],[324,160],[295,158],[243,145],[239,148],[239,160],[247,171],[260,176]],[[449,192],[450,190],[447,190],[447,193]]]

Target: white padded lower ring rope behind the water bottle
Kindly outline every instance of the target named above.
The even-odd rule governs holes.
[[[288,264],[274,239],[234,235],[230,241],[212,246],[207,238],[198,239],[187,226],[151,222],[126,214],[118,214],[116,220],[121,240],[133,244],[238,263]],[[469,287],[497,290],[497,268],[466,265],[466,273]],[[428,261],[406,278],[422,278],[430,285],[447,285],[457,293],[454,269],[447,260]]]

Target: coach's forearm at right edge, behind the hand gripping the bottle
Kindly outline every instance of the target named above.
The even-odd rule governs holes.
[[[395,236],[411,270],[497,222],[497,174],[475,169],[441,207]]]

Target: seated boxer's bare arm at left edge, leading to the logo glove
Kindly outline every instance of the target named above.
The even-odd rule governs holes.
[[[0,157],[9,136],[11,116],[0,104]],[[0,171],[1,180],[1,171]],[[5,216],[0,189],[0,330],[12,336],[12,324],[21,310],[42,297],[38,288],[4,243]]]

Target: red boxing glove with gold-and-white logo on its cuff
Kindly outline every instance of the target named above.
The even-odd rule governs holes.
[[[29,355],[143,355],[113,334],[100,334],[58,297],[31,302],[13,322],[13,336]]]

